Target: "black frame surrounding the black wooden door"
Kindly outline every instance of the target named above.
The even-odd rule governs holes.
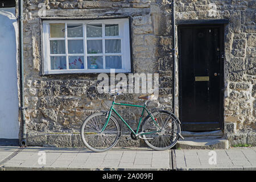
[[[226,23],[226,21],[225,21]],[[220,73],[221,73],[221,78],[220,78],[220,129],[218,130],[222,130],[224,131],[224,57],[225,57],[225,47],[224,47],[224,23],[205,23],[205,22],[193,22],[191,23],[180,23],[177,26],[177,47],[178,47],[178,60],[177,60],[177,64],[178,64],[178,78],[179,78],[179,82],[178,82],[178,92],[179,92],[179,116],[180,116],[180,121],[181,121],[181,129],[184,128],[183,126],[183,122],[182,122],[182,118],[181,118],[181,111],[182,111],[182,104],[181,104],[181,100],[182,100],[182,96],[181,96],[181,74],[182,74],[182,70],[181,70],[181,56],[180,55],[180,50],[181,50],[181,42],[180,42],[180,36],[181,36],[181,28],[195,28],[195,27],[200,27],[200,28],[218,28],[219,31],[219,41],[220,41],[220,53],[221,53],[221,57],[220,57]],[[192,123],[191,123],[192,124]],[[193,124],[192,124],[193,125]],[[192,127],[192,126],[191,126]],[[202,127],[203,128],[203,127]],[[183,131],[191,131],[191,130],[183,130]],[[202,131],[213,131],[213,129],[202,129]]]

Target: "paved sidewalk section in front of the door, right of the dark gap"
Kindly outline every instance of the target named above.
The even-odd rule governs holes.
[[[256,170],[256,147],[175,150],[175,155],[177,170]]]

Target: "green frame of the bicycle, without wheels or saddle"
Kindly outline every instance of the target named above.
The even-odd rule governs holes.
[[[123,105],[123,106],[131,106],[131,107],[141,107],[141,108],[143,108],[143,109],[142,109],[142,113],[141,113],[141,118],[139,118],[139,123],[138,123],[138,127],[137,127],[137,130],[136,130],[136,133],[134,132],[133,129],[131,129],[131,127],[128,125],[128,123],[125,121],[125,119],[123,119],[123,118],[121,117],[121,115],[114,109],[114,105]],[[150,111],[147,110],[146,105],[147,105],[147,101],[144,103],[143,106],[141,106],[141,105],[132,105],[132,104],[117,103],[117,102],[115,102],[115,99],[114,99],[114,101],[112,102],[112,106],[110,107],[110,110],[109,110],[108,115],[107,115],[108,118],[107,118],[107,120],[106,120],[106,122],[105,122],[105,125],[104,125],[104,127],[102,128],[101,132],[103,132],[103,131],[105,130],[106,126],[108,125],[108,122],[109,122],[110,116],[111,116],[111,114],[112,114],[112,111],[114,111],[114,113],[118,115],[118,117],[121,119],[121,121],[122,121],[123,123],[125,123],[125,125],[131,130],[131,132],[132,132],[135,136],[138,136],[138,135],[146,135],[146,134],[151,134],[151,133],[160,132],[160,131],[161,131],[161,130],[160,130],[160,127],[159,127],[158,124],[156,123],[155,118],[151,115]],[[158,127],[159,131],[151,131],[151,132],[148,132],[148,133],[141,133],[141,134],[138,133],[138,132],[139,132],[139,127],[141,126],[141,121],[142,121],[143,114],[144,114],[144,111],[145,111],[145,110],[147,111],[148,115],[150,115],[152,121],[155,123],[156,127]]]

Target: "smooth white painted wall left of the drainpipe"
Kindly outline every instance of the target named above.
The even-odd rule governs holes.
[[[0,9],[0,139],[18,139],[18,24],[15,8]]]

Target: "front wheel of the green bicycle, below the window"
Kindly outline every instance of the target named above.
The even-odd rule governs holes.
[[[90,115],[81,126],[81,138],[85,146],[94,152],[105,152],[117,144],[121,134],[118,121],[113,117],[109,118],[108,125],[101,132],[105,125],[106,113],[95,113]]]

